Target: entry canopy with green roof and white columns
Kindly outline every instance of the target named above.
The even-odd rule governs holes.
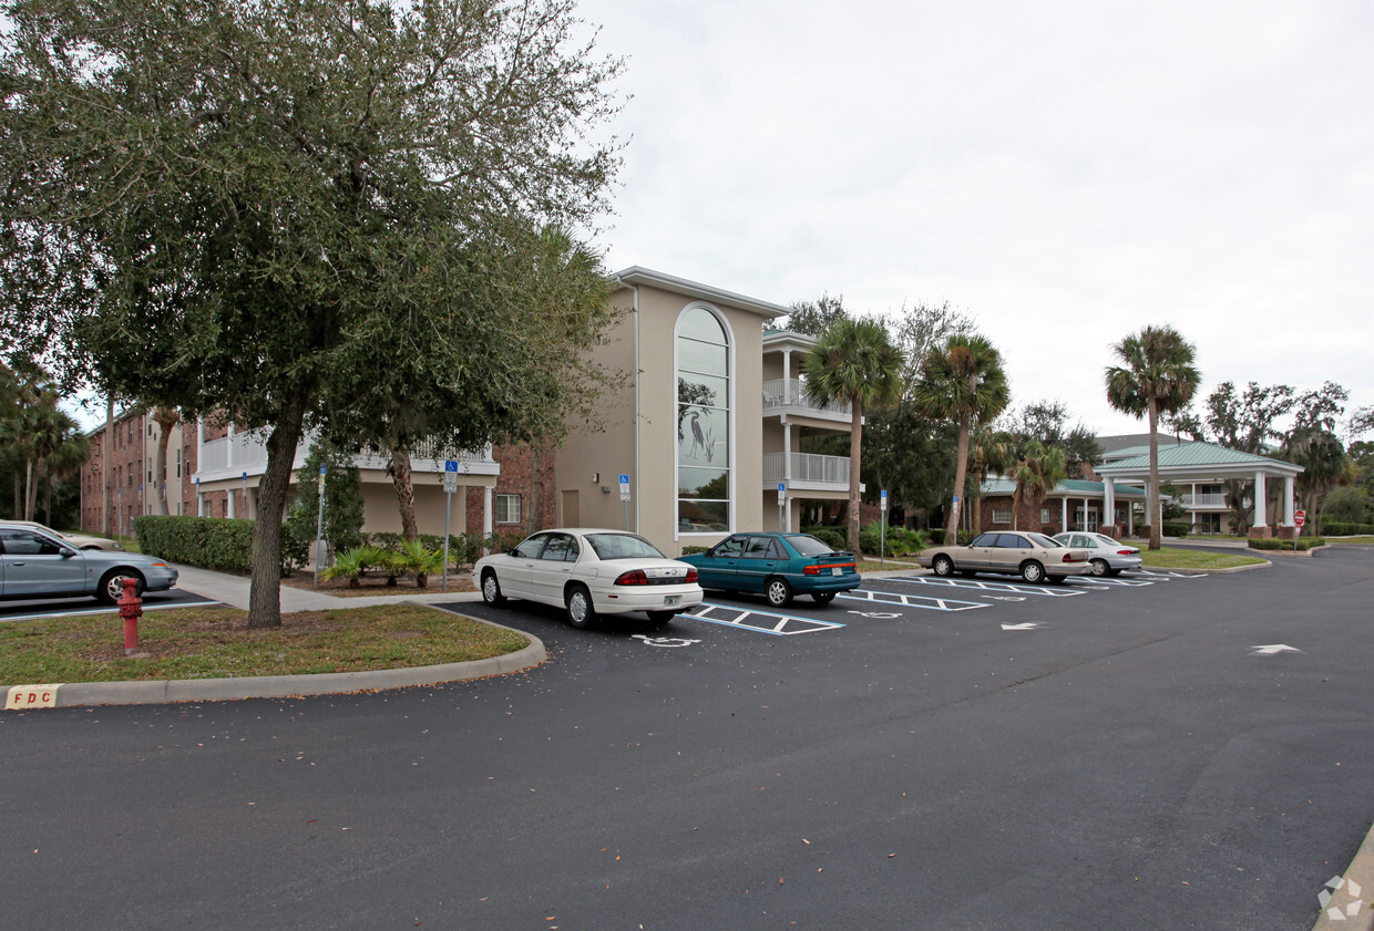
[[[1094,471],[1102,478],[1107,507],[1110,508],[1114,485],[1128,482],[1145,485],[1150,481],[1149,448],[1123,449],[1113,455],[1112,461],[1096,466]],[[1221,482],[1245,479],[1254,482],[1254,523],[1259,536],[1270,536],[1268,496],[1265,482],[1270,478],[1283,479],[1282,527],[1296,526],[1293,522],[1293,483],[1303,472],[1301,466],[1279,459],[1242,453],[1226,446],[1205,442],[1182,442],[1160,445],[1161,482]]]

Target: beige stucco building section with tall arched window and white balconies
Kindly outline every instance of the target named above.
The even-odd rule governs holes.
[[[805,400],[809,336],[765,332],[789,308],[639,266],[616,283],[624,313],[596,360],[629,378],[599,430],[570,424],[559,523],[628,526],[676,555],[735,530],[796,529],[798,500],[845,498],[848,457],[801,449],[848,434],[849,412]]]

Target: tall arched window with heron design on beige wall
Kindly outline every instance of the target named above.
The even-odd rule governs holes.
[[[730,530],[730,334],[703,306],[677,319],[677,531]]]

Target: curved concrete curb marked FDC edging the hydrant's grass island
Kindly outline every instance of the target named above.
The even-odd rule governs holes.
[[[475,619],[475,618],[474,618]],[[491,623],[481,621],[481,623]],[[502,626],[502,625],[492,625]],[[507,628],[514,629],[514,628]],[[60,684],[52,704],[43,707],[91,707],[100,704],[169,704],[177,702],[236,702],[254,698],[297,698],[306,695],[345,695],[416,685],[440,685],[488,676],[503,676],[533,669],[545,659],[544,643],[523,630],[529,645],[504,656],[474,659],[466,663],[376,669],[363,673],[320,673],[316,676],[250,676],[245,678],[173,678],[136,682]],[[0,692],[10,688],[0,687]],[[32,710],[25,709],[25,710]]]

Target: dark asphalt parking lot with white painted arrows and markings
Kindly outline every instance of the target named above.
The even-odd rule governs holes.
[[[12,714],[0,926],[1309,928],[1374,820],[1370,552],[1118,581],[455,603],[548,662]]]

